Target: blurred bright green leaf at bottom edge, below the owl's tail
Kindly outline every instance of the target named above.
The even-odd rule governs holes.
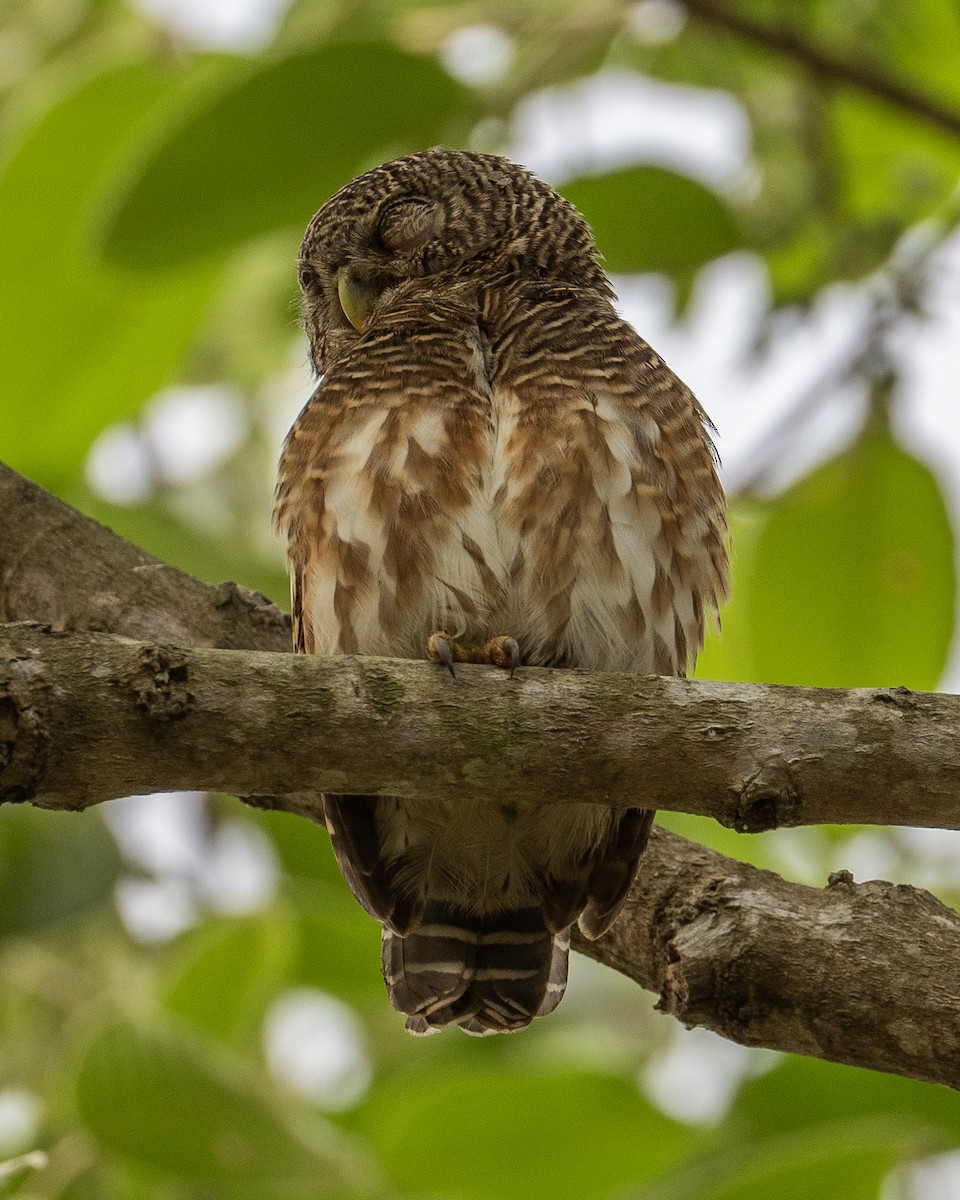
[[[438,1039],[439,1040],[439,1039]],[[626,1080],[490,1069],[421,1073],[374,1088],[358,1115],[402,1189],[478,1200],[599,1200],[654,1178],[700,1135],[649,1106]]]

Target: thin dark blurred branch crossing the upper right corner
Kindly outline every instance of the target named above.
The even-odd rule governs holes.
[[[684,0],[684,7],[702,24],[736,34],[746,42],[782,55],[815,79],[847,84],[895,108],[920,116],[948,133],[960,134],[960,112],[941,104],[932,96],[914,91],[850,55],[841,58],[829,54],[806,42],[793,30],[764,25],[744,17],[733,12],[725,0]]]

